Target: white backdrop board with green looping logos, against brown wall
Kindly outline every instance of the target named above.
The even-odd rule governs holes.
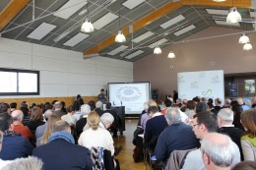
[[[195,96],[224,99],[224,71],[184,72],[177,74],[180,98]]]

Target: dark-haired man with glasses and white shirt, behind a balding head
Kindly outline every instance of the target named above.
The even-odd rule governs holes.
[[[208,134],[215,133],[218,128],[217,118],[213,112],[203,111],[194,115],[192,120],[193,131],[196,138],[203,140]],[[238,146],[232,142],[235,147],[235,155],[232,157],[231,165],[234,166],[240,162],[240,152]],[[206,166],[202,158],[201,149],[190,151],[184,161],[182,170],[205,170]]]

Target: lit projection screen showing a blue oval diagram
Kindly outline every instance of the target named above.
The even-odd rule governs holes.
[[[113,106],[125,106],[126,114],[140,114],[150,99],[150,83],[108,84],[108,99]]]

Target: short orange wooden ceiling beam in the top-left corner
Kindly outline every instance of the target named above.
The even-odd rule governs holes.
[[[30,0],[12,0],[2,13],[0,13],[0,30],[5,28],[29,1]]]

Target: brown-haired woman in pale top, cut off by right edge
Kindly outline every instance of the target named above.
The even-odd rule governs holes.
[[[244,160],[256,161],[256,109],[242,112],[241,122],[245,129],[241,138]]]

